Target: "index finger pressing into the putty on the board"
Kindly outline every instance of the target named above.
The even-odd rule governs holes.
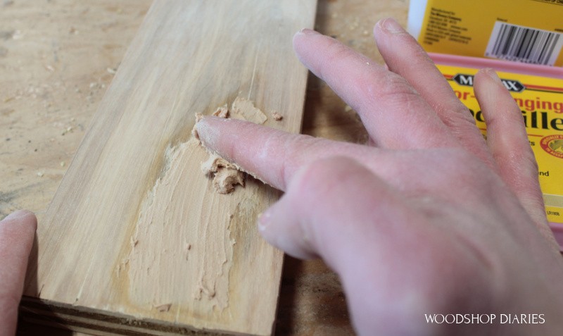
[[[329,156],[348,156],[362,161],[379,151],[373,147],[296,135],[248,121],[213,116],[198,121],[196,130],[206,148],[281,190],[286,189],[298,168],[305,163]]]

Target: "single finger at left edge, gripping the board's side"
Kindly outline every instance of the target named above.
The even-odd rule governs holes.
[[[0,221],[0,336],[15,334],[36,229],[37,219],[29,211],[15,211]]]

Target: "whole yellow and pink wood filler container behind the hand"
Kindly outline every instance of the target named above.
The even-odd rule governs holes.
[[[521,110],[550,228],[563,251],[561,18],[563,0],[411,0],[407,25],[485,137],[473,78],[481,68],[497,71]]]

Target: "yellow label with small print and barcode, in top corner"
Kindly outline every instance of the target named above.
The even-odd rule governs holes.
[[[563,66],[563,0],[428,0],[429,52]]]

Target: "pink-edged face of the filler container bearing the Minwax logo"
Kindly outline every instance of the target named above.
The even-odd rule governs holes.
[[[545,211],[563,251],[563,68],[446,54],[431,53],[430,57],[485,137],[486,125],[473,92],[473,78],[481,68],[497,71],[522,112],[538,161]]]

